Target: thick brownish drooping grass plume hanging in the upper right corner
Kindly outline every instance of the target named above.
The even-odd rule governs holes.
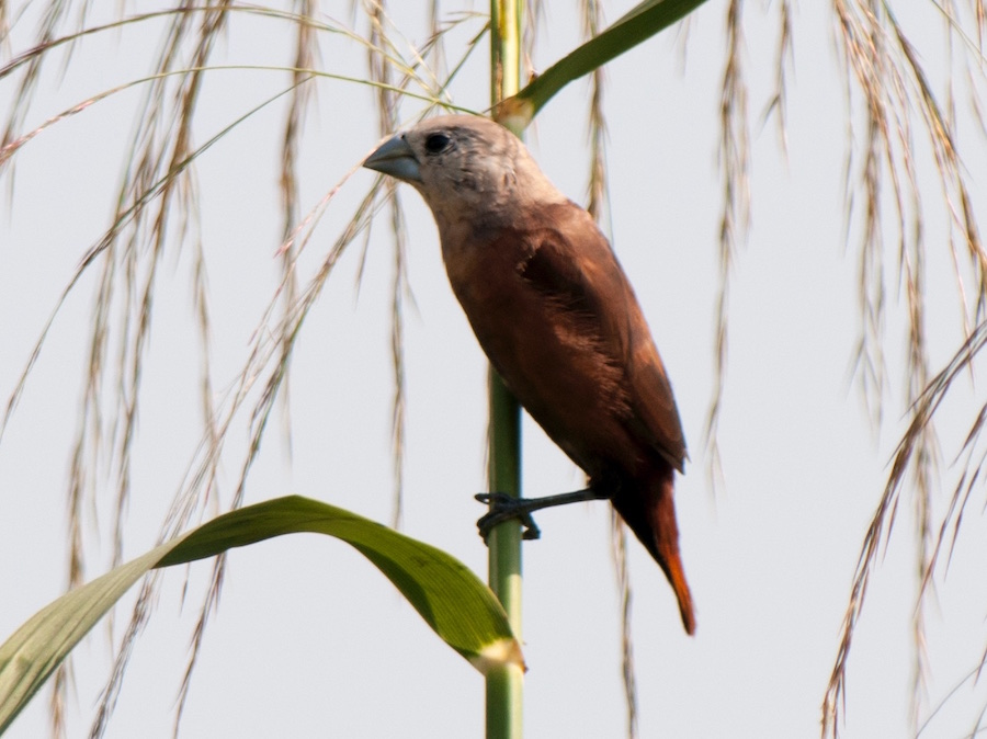
[[[953,225],[958,230],[963,250],[975,274],[973,293],[976,312],[983,310],[985,300],[985,252],[977,234],[974,212],[969,207],[969,195],[965,174],[955,148],[955,135],[949,118],[940,110],[935,95],[926,78],[918,57],[886,5],[870,3],[836,2],[835,12],[839,21],[840,50],[847,64],[848,75],[863,99],[866,117],[866,139],[860,182],[853,185],[848,180],[848,189],[856,190],[850,196],[851,206],[859,196],[864,202],[862,234],[860,237],[860,292],[864,318],[864,330],[859,343],[858,370],[861,387],[870,414],[875,423],[881,422],[882,398],[886,386],[886,367],[883,359],[884,314],[887,296],[885,277],[885,248],[882,214],[882,193],[885,184],[890,187],[892,214],[898,234],[898,269],[906,283],[906,298],[909,304],[911,333],[909,385],[924,385],[921,368],[915,357],[923,350],[921,343],[921,321],[923,292],[917,282],[915,271],[919,263],[916,254],[923,250],[922,207],[920,189],[916,180],[914,162],[914,134],[910,112],[917,111],[931,145],[935,169],[940,177],[944,203]],[[848,82],[851,80],[848,79]],[[848,88],[851,87],[848,84]],[[904,175],[904,177],[903,177]],[[848,168],[848,179],[852,168]],[[961,259],[950,229],[949,245],[955,262]],[[909,257],[906,252],[911,252]],[[917,292],[918,288],[918,292]],[[966,316],[969,291],[957,273],[957,288],[961,309]],[[964,320],[966,320],[964,318]],[[967,325],[968,326],[968,325]],[[968,329],[967,329],[968,330]],[[914,393],[912,393],[914,396]]]

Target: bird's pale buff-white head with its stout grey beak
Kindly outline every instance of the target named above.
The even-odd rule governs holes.
[[[363,166],[413,185],[440,231],[478,216],[510,220],[527,203],[566,200],[517,136],[472,115],[422,121],[384,141]]]

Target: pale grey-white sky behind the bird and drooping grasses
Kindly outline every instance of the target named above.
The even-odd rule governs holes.
[[[111,4],[95,12],[115,12],[116,3]],[[631,4],[609,7],[608,19],[615,20]],[[606,68],[609,230],[668,366],[692,457],[678,482],[677,507],[683,560],[697,605],[694,638],[682,632],[660,570],[636,541],[629,542],[642,737],[818,735],[860,544],[903,430],[904,314],[890,257],[892,390],[880,433],[869,425],[851,374],[860,331],[859,225],[851,225],[848,251],[847,99],[835,26],[822,4],[799,3],[795,13],[787,162],[779,154],[774,121],[760,124],[774,81],[776,13],[772,7],[765,20],[762,3],[747,7],[753,217],[733,275],[719,434],[725,488],[715,498],[704,471],[703,425],[713,390],[725,2],[712,0],[693,15],[684,56],[677,29]],[[918,48],[935,49],[922,61],[933,83],[941,86],[946,71],[937,58],[942,52],[940,16],[928,2],[894,4]],[[347,18],[345,5],[324,10]],[[577,44],[576,7],[546,3],[536,67],[547,67]],[[147,9],[127,4],[127,12]],[[33,15],[27,13],[11,34],[14,53],[30,46]],[[90,22],[109,18],[92,15]],[[398,13],[395,20],[413,43],[426,38],[423,19]],[[469,33],[479,25],[475,21]],[[29,127],[147,73],[163,27],[163,22],[147,23],[87,38],[64,78],[63,57],[56,53],[46,66]],[[288,42],[287,24],[237,18],[213,62],[286,65]],[[452,43],[454,57],[457,47]],[[365,57],[356,45],[327,34],[320,44],[325,68],[365,73]],[[478,52],[454,87],[458,104],[486,106],[487,66],[486,50]],[[274,71],[208,75],[196,116],[196,144],[282,89],[286,79],[286,73]],[[332,80],[316,84],[318,113],[306,122],[300,162],[306,209],[377,143],[367,88]],[[527,139],[543,169],[577,202],[586,200],[588,89],[585,81],[567,88],[538,117]],[[10,78],[0,81],[0,111],[12,92]],[[18,156],[13,186],[4,180],[3,398],[78,260],[109,225],[139,95],[137,90],[116,95],[43,133]],[[411,122],[418,110],[409,102],[404,120]],[[957,113],[962,151],[976,187],[973,201],[983,217],[984,140],[972,129],[962,89]],[[283,117],[282,104],[271,106],[196,164],[218,389],[236,377],[279,278],[274,252],[281,228],[277,147]],[[932,370],[938,371],[961,341],[961,314],[934,171],[919,129],[916,138],[923,152],[918,175],[928,205],[928,329]],[[307,247],[299,271],[303,283],[372,181],[371,172],[361,171],[345,183]],[[401,197],[409,215],[417,303],[406,315],[404,531],[453,554],[485,579],[486,548],[474,527],[483,509],[473,493],[485,489],[486,361],[449,289],[430,214],[410,187],[402,187]],[[375,229],[359,296],[358,243],[306,322],[293,364],[292,455],[279,418],[249,479],[247,502],[298,493],[390,520],[392,252],[386,228],[382,220]],[[162,263],[143,382],[127,558],[152,546],[202,432],[189,253],[172,249]],[[64,587],[66,481],[95,274],[84,278],[64,306],[0,445],[3,638]],[[968,405],[972,397],[953,398],[938,427],[944,461],[938,514],[955,477],[950,465],[976,412]],[[225,500],[239,470],[242,427],[232,439],[224,465]],[[566,491],[581,482],[578,470],[527,419],[524,457],[529,496]],[[109,484],[106,488],[100,510],[87,512],[92,555],[88,579],[100,575],[111,556]],[[984,648],[987,594],[979,542],[987,526],[982,507],[978,489],[949,578],[928,611],[932,669],[923,717],[976,667]],[[543,512],[537,521],[543,538],[524,547],[526,734],[624,736],[608,507],[572,505]],[[842,735],[848,738],[910,732],[910,618],[916,596],[911,526],[909,503],[899,512],[855,635]],[[209,567],[201,562],[191,568],[184,607],[184,571],[167,573],[158,613],[137,644],[109,737],[170,736],[197,593]],[[127,615],[127,607],[118,611],[114,640]],[[106,636],[106,628],[98,628],[76,650],[71,737],[86,735],[104,683]],[[43,736],[46,700],[47,693],[41,693],[8,736]],[[987,690],[964,684],[921,736],[966,736],[985,701]],[[478,737],[483,703],[481,677],[447,649],[355,550],[327,537],[291,536],[231,555],[181,736]]]

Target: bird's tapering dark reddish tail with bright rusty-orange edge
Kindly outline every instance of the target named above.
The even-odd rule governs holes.
[[[676,591],[682,625],[687,634],[692,635],[695,633],[695,612],[679,555],[674,474],[670,465],[663,465],[645,480],[624,482],[613,497],[613,505],[661,567]]]

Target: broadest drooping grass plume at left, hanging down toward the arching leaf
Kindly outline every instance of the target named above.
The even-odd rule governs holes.
[[[189,62],[193,71],[178,78],[163,76],[173,69],[180,58],[179,44],[186,33],[192,33],[193,20],[189,13],[172,16],[172,34],[164,45],[157,70],[162,76],[151,82],[145,99],[145,110],[132,143],[132,157],[117,196],[114,226],[125,223],[127,215],[133,217],[126,227],[111,228],[101,245],[102,253],[97,258],[103,261],[103,271],[93,310],[89,378],[72,455],[69,504],[75,532],[82,518],[83,499],[97,498],[93,476],[99,469],[99,461],[109,455],[116,484],[112,538],[114,566],[122,561],[124,518],[131,498],[131,458],[139,417],[146,344],[152,325],[158,266],[171,242],[181,245],[189,238],[191,221],[188,217],[180,217],[177,239],[168,235],[172,213],[194,214],[197,209],[196,185],[189,167],[195,154],[191,134],[192,112],[201,90],[202,70],[208,61],[215,37],[224,26],[225,14],[219,9],[198,16],[197,43]],[[168,82],[172,79],[177,79],[178,83],[175,89],[169,90]],[[174,96],[177,115],[166,120],[157,113],[167,94]],[[146,197],[150,192],[155,193],[152,200]],[[115,319],[111,316],[114,305],[120,310]],[[200,306],[201,311],[206,310],[205,303]],[[207,327],[207,318],[201,325]],[[114,339],[114,366],[104,371],[111,361]],[[115,377],[115,393],[110,398],[104,393],[106,372]],[[101,409],[107,403],[113,409],[113,417],[103,419]],[[104,428],[109,433],[101,432]],[[76,464],[77,461],[84,462]],[[69,566],[71,584],[81,582],[83,561],[81,537],[73,536]],[[61,684],[56,679],[56,685]]]

